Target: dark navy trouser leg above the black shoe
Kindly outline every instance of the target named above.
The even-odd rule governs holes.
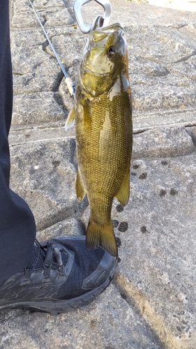
[[[23,269],[36,236],[28,205],[9,188],[8,133],[12,117],[13,80],[10,59],[9,1],[0,10],[0,281]]]

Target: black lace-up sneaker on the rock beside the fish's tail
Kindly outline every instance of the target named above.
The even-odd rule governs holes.
[[[34,244],[29,265],[0,282],[0,311],[62,313],[84,307],[112,280],[117,260],[86,237],[67,236]]]

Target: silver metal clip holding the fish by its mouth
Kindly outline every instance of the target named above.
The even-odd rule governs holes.
[[[99,3],[101,6],[103,6],[105,13],[102,16],[98,16],[96,17],[96,20],[94,20],[93,23],[85,25],[82,19],[82,14],[81,14],[81,7],[82,5],[84,5],[84,3],[88,3],[91,0],[75,0],[74,4],[73,4],[73,10],[75,13],[75,17],[77,19],[77,23],[81,29],[81,31],[84,34],[88,34],[89,31],[91,31],[91,29],[93,28],[93,24],[95,22],[99,23],[99,27],[106,27],[107,24],[110,21],[110,15],[111,15],[111,5],[110,2],[108,0],[95,0],[97,3]]]

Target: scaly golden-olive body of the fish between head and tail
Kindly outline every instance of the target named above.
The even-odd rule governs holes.
[[[112,101],[107,94],[96,99],[89,102],[91,131],[77,129],[82,142],[82,147],[77,143],[77,158],[93,218],[107,223],[112,200],[130,166],[130,98],[128,92],[124,92]],[[82,125],[85,116],[81,114]]]

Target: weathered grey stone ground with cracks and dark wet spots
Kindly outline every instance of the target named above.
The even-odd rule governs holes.
[[[196,19],[191,12],[112,0],[121,22],[133,94],[128,205],[114,201],[120,262],[110,286],[86,309],[48,315],[0,313],[0,348],[196,348]],[[14,108],[11,187],[36,217],[38,239],[84,234],[87,200],[75,195],[73,100],[27,0],[10,4]],[[33,5],[76,80],[86,37],[68,0]],[[100,8],[91,2],[89,22]],[[99,11],[99,12],[98,12]]]

